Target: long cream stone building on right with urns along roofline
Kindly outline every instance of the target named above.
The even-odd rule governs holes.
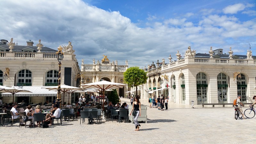
[[[252,102],[256,93],[256,56],[248,50],[246,55],[233,55],[231,47],[228,54],[223,49],[212,50],[209,54],[188,50],[181,58],[179,51],[175,61],[157,60],[148,65],[147,84],[140,86],[140,96],[164,94],[169,102],[190,105],[204,103],[232,103],[237,95],[242,102]]]

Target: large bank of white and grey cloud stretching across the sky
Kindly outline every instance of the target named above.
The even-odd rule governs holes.
[[[111,61],[125,64],[127,59],[129,66],[140,68],[157,59],[167,61],[170,54],[176,60],[177,50],[184,53],[188,46],[204,53],[210,46],[229,50],[230,46],[244,48],[243,41],[255,45],[255,19],[239,21],[235,16],[206,14],[216,11],[205,10],[204,17],[196,15],[196,20],[191,20],[195,17],[192,13],[163,21],[148,16],[152,21],[140,28],[120,12],[105,11],[80,0],[6,1],[0,9],[5,16],[0,23],[0,39],[9,41],[13,37],[19,45],[41,39],[44,46],[53,49],[71,41],[79,64],[82,59],[84,63],[92,63],[93,58],[101,60],[104,54]]]

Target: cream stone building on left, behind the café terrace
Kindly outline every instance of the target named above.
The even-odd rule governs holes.
[[[57,60],[57,48],[51,49],[43,46],[41,40],[36,46],[33,46],[34,42],[27,41],[27,46],[17,45],[7,40],[1,40],[0,44],[0,85],[4,86],[20,86],[24,88],[29,86],[33,89],[41,86],[53,86],[58,85],[59,67]],[[80,73],[80,68],[74,54],[73,46],[71,42],[68,42],[68,46],[64,46],[63,49],[64,58],[61,61],[61,84],[71,85],[79,87],[80,79],[77,79],[76,75]],[[8,68],[8,72],[6,71]],[[8,73],[8,79],[4,80],[5,72]],[[63,94],[62,94],[63,95]],[[12,102],[12,97],[4,96],[2,93],[3,102]],[[17,95],[18,96],[18,95]],[[50,102],[56,99],[57,94],[41,94],[34,96],[15,97],[16,102],[20,102],[23,99],[33,103],[44,103],[45,100]],[[67,101],[68,96],[65,97]]]

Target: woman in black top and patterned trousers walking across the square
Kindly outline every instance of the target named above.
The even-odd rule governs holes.
[[[134,102],[132,103],[132,110],[131,110],[131,113],[130,113],[130,116],[132,115],[132,111],[136,111],[136,115],[133,116],[133,119],[134,119],[134,124],[135,124],[135,130],[134,131],[139,131],[140,130],[140,124],[138,123],[138,117],[140,116],[140,100],[139,100],[139,97],[136,96],[135,97],[135,100]]]

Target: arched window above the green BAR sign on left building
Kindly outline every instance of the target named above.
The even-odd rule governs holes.
[[[32,85],[32,72],[28,69],[22,69],[18,73],[17,86],[31,86]]]

